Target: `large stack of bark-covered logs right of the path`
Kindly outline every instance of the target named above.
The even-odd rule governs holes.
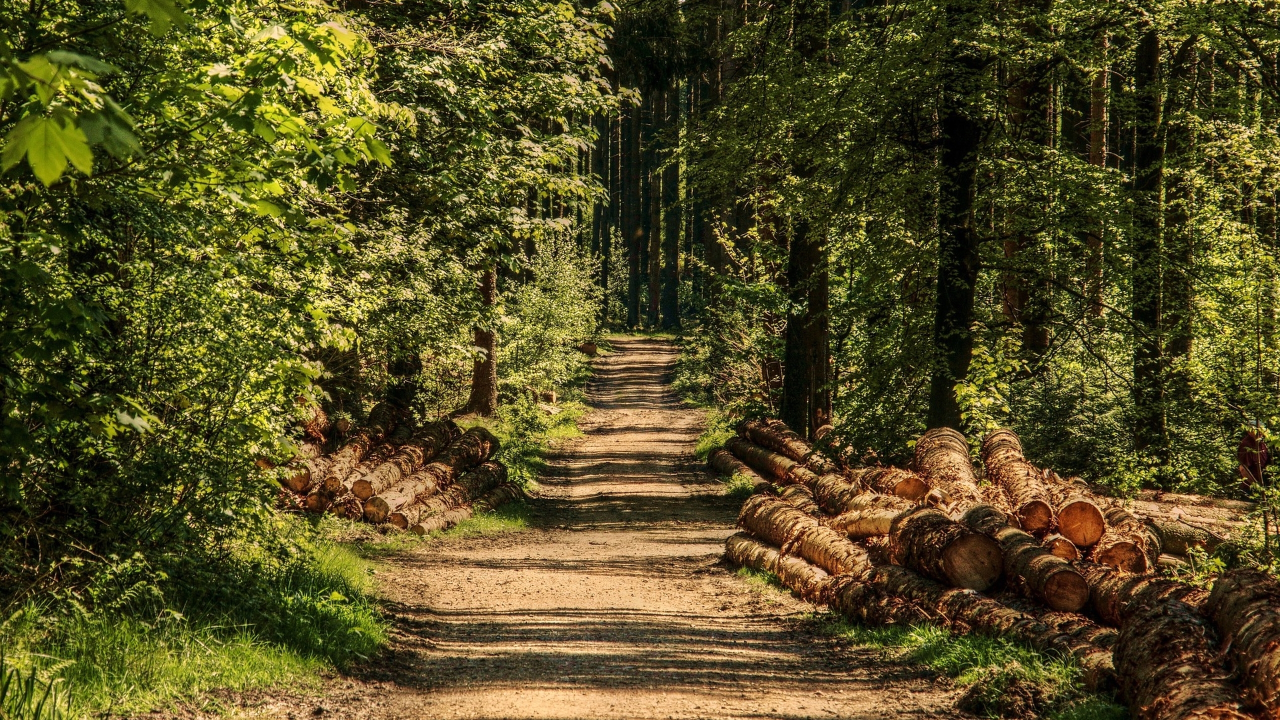
[[[744,421],[709,459],[759,480],[726,556],[858,621],[1069,655],[1138,720],[1280,719],[1280,583],[1231,570],[1207,591],[1157,574],[1224,542],[1233,501],[1126,506],[1036,466],[1011,430],[980,447],[980,475],[947,428],[919,438],[910,468],[849,468],[777,420]]]

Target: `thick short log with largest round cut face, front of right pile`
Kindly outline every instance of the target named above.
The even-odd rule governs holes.
[[[890,557],[928,578],[974,591],[1000,579],[1000,544],[975,533],[936,507],[915,507],[893,519]]]

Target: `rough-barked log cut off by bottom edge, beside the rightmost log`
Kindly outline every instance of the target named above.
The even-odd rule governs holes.
[[[1137,720],[1244,720],[1240,691],[1220,667],[1215,634],[1185,602],[1138,606],[1120,628],[1115,667]]]

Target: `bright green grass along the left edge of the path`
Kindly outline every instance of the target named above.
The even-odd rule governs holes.
[[[321,671],[387,642],[370,561],[329,530],[282,518],[227,556],[178,557],[165,570],[140,556],[109,559],[91,587],[28,602],[0,623],[0,675],[65,688],[65,716],[77,719],[179,703],[223,712],[224,693],[214,691],[317,687]]]

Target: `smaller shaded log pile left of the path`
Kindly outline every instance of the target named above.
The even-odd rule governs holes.
[[[379,404],[364,428],[324,454],[329,432],[316,411],[280,482],[283,509],[429,534],[524,497],[507,468],[492,460],[499,442],[484,427],[463,432],[453,420],[411,427]]]

